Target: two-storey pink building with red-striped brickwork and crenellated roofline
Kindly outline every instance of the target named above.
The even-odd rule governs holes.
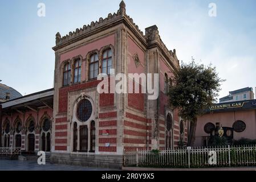
[[[157,26],[144,34],[125,11],[122,1],[117,13],[105,19],[66,36],[56,34],[53,111],[47,110],[52,117],[52,162],[120,167],[124,150],[169,148],[187,141],[187,127],[178,111],[169,109],[165,94],[169,77],[179,67],[176,51],[166,48]],[[159,97],[99,94],[96,77],[106,73],[111,82],[111,68],[127,76],[158,73]],[[139,86],[142,90],[141,82]]]

